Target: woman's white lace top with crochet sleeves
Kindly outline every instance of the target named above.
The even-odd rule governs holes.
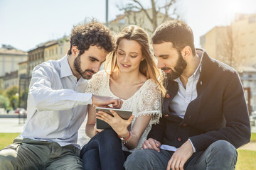
[[[132,114],[135,115],[132,120],[132,127],[138,116],[153,115],[137,147],[129,150],[122,144],[123,150],[134,152],[137,149],[141,149],[142,144],[146,140],[146,136],[151,130],[151,125],[159,123],[159,118],[161,117],[161,91],[156,89],[156,86],[157,84],[152,79],[148,79],[132,97],[126,100],[122,99],[123,104],[121,109],[131,110]],[[118,98],[114,96],[110,90],[110,75],[107,74],[105,70],[98,72],[92,77],[87,85],[86,93]]]

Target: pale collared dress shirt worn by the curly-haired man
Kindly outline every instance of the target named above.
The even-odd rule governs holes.
[[[78,129],[87,105],[92,104],[92,94],[85,94],[87,81],[82,77],[77,81],[67,55],[36,66],[28,91],[28,118],[20,136],[79,147]]]

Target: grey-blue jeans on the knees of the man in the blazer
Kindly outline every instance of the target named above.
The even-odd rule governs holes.
[[[174,152],[161,149],[143,149],[133,152],[124,163],[127,170],[154,169],[166,170],[169,159]],[[196,152],[186,162],[186,170],[233,170],[237,162],[238,152],[225,140],[219,140],[210,145],[204,152]]]

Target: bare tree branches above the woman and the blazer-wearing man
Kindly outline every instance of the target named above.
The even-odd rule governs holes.
[[[117,8],[124,11],[124,17],[126,17],[128,21],[127,25],[135,24],[141,26],[149,33],[153,33],[157,26],[164,21],[170,18],[179,18],[174,6],[176,0],[166,0],[164,4],[160,4],[160,2],[156,0],[150,0],[150,3],[151,8],[146,8],[140,1],[130,0],[129,4],[126,4],[126,6],[120,7],[117,5]],[[145,19],[137,16],[139,11],[144,13],[144,16],[151,24],[151,28],[143,26]]]

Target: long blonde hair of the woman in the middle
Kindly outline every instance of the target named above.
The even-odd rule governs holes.
[[[141,72],[146,79],[153,79],[156,84],[158,84],[159,89],[162,94],[166,94],[166,89],[164,88],[162,82],[163,78],[161,76],[160,70],[156,67],[156,59],[152,53],[151,45],[149,44],[149,35],[140,28],[139,26],[127,26],[118,35],[116,41],[116,49],[107,56],[105,62],[105,71],[109,70],[107,74],[112,74],[114,71],[119,70],[117,66],[117,47],[120,40],[136,40],[142,47],[142,56],[144,60],[139,64],[139,72]]]

